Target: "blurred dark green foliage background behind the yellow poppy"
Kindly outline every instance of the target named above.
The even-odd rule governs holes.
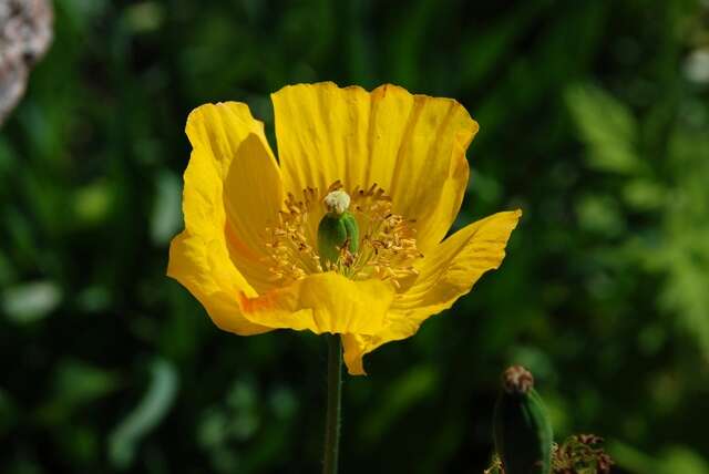
[[[0,472],[318,472],[325,341],[165,277],[188,112],[333,80],[480,122],[456,226],[500,271],[346,378],[343,473],[481,473],[500,372],[618,473],[709,473],[709,2],[56,0],[0,131]],[[273,133],[271,133],[273,136]],[[274,143],[274,142],[271,142]]]

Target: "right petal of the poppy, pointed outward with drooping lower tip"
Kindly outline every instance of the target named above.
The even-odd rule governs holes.
[[[459,230],[429,253],[419,266],[415,284],[394,299],[382,331],[342,338],[349,372],[363,374],[366,353],[413,336],[427,318],[450,308],[484,272],[499,268],[521,215],[521,210],[494,214]]]

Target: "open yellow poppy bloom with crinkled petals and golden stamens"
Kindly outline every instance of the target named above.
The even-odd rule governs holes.
[[[189,114],[185,230],[167,275],[225,331],[341,334],[349,372],[363,374],[366,353],[412,336],[500,266],[521,212],[443,239],[477,132],[453,100],[333,83],[286,86],[271,100],[278,162],[245,104]],[[349,209],[358,241],[348,237],[326,261],[318,225],[333,209]]]

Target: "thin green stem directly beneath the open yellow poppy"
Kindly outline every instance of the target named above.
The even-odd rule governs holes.
[[[322,474],[337,474],[342,405],[342,341],[339,334],[326,334],[326,338],[328,340],[328,409],[325,421]]]

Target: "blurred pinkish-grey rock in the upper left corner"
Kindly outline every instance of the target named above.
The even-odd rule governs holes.
[[[0,125],[24,94],[30,69],[51,40],[48,0],[0,0]]]

